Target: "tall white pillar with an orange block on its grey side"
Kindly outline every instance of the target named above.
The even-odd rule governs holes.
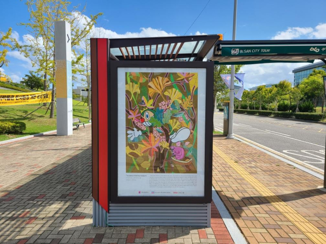
[[[72,135],[72,73],[70,24],[55,21],[57,135]]]

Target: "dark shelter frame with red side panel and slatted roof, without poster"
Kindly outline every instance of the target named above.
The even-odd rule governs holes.
[[[110,203],[211,202],[213,90],[209,87],[213,85],[213,62],[201,61],[220,39],[222,35],[91,39],[92,196],[105,211]],[[153,60],[165,62],[150,62]],[[204,197],[117,196],[118,67],[206,69]]]

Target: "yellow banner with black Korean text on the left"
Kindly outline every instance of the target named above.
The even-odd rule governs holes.
[[[52,92],[0,94],[0,106],[51,102]]]

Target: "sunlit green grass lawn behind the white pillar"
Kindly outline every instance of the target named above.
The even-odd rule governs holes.
[[[2,90],[0,90],[2,93]],[[83,106],[83,103],[72,100],[72,116],[74,118],[79,118],[80,121],[88,122],[88,107],[87,103]],[[41,104],[31,104],[31,105],[13,105],[13,106],[1,106],[0,107],[0,121],[22,121],[26,124],[26,130],[20,135],[0,135],[0,141],[21,137],[34,135],[41,132],[56,130],[57,127],[57,111],[55,111],[55,118],[49,118],[50,110],[46,107],[38,109],[36,112],[30,114],[26,118],[23,118],[26,114],[29,114],[33,110],[40,107]]]

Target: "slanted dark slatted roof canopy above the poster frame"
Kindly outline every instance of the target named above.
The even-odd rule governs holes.
[[[223,35],[110,39],[118,60],[202,61]]]

